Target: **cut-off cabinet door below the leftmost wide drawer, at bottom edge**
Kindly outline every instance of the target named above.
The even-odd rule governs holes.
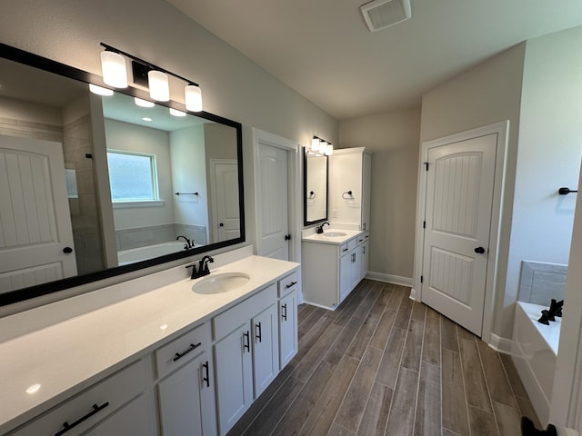
[[[123,434],[124,436],[155,436],[156,425],[151,416],[152,409],[149,407],[147,397],[142,395],[135,401],[130,402],[122,410],[117,411],[112,417],[97,425],[92,431],[85,433],[85,436],[112,436],[116,434]]]

